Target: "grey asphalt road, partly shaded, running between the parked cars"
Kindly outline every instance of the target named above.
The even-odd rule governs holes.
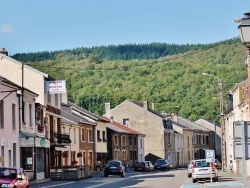
[[[236,181],[235,177],[220,176],[220,182]],[[206,183],[209,183],[207,181]],[[196,184],[203,184],[198,182]],[[131,172],[125,178],[120,176],[104,177],[103,172],[94,172],[92,178],[79,181],[49,181],[31,185],[31,188],[179,188],[192,183],[187,177],[186,169],[171,169],[169,171]]]

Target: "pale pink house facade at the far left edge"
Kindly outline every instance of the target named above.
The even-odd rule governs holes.
[[[0,76],[0,165],[20,166],[18,87]]]

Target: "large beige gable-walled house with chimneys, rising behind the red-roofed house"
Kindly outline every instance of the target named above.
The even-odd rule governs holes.
[[[163,139],[163,119],[166,116],[149,108],[146,101],[142,104],[132,100],[125,100],[113,109],[110,109],[110,103],[106,103],[105,110],[104,116],[112,117],[114,121],[145,135],[145,160],[155,162],[157,158],[166,157]]]

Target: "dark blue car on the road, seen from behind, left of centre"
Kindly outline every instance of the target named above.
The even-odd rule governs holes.
[[[109,175],[120,175],[121,177],[125,177],[124,166],[121,161],[108,161],[104,168],[104,176],[108,177]]]

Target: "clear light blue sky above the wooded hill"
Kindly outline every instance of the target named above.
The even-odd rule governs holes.
[[[0,0],[0,49],[209,44],[239,36],[249,0]]]

